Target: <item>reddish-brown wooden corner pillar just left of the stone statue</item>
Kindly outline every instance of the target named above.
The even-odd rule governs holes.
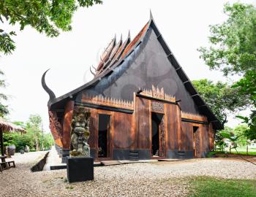
[[[67,101],[64,111],[64,120],[62,125],[63,137],[62,137],[62,163],[66,163],[67,156],[69,156],[70,148],[70,132],[71,132],[71,121],[74,111],[75,101]]]

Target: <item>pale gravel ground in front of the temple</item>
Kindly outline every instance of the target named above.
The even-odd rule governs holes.
[[[69,184],[67,171],[31,172],[42,152],[15,155],[15,169],[0,173],[0,196],[187,196],[186,177],[256,179],[256,166],[237,159],[193,159],[94,168],[94,181]]]

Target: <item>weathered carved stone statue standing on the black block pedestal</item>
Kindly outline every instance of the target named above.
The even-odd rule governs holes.
[[[90,157],[89,139],[90,112],[78,112],[71,123],[71,157],[85,156]]]

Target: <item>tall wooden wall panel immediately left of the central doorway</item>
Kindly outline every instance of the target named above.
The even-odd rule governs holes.
[[[150,101],[147,99],[136,98],[135,101],[135,118],[136,118],[136,139],[138,149],[151,149],[150,139],[150,118],[151,112],[149,111]]]

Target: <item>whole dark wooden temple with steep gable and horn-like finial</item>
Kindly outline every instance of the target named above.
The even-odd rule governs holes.
[[[78,110],[91,113],[95,160],[203,158],[222,128],[167,47],[152,16],[134,39],[110,42],[94,80],[48,101],[50,131],[63,158]],[[200,72],[200,71],[197,71]],[[46,73],[46,72],[45,72]]]

